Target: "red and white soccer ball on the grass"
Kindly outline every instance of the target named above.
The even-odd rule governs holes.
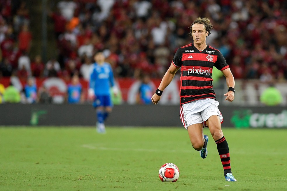
[[[160,167],[158,176],[162,182],[175,182],[179,177],[178,167],[173,163],[165,163]]]

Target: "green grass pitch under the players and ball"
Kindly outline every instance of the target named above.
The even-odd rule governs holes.
[[[1,127],[0,190],[287,190],[287,130],[223,128],[237,182],[209,135],[202,159],[183,128]],[[177,182],[158,170],[172,162]]]

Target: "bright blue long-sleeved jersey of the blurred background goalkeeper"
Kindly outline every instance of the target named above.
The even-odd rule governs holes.
[[[95,95],[110,95],[110,87],[114,84],[111,65],[107,62],[102,65],[95,62],[90,78],[90,88],[95,90]]]

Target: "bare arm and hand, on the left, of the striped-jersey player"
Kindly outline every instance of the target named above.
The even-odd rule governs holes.
[[[164,74],[162,81],[160,82],[160,86],[158,86],[158,89],[160,91],[163,91],[168,84],[170,84],[171,80],[174,78],[175,73],[177,72],[177,70],[180,67],[176,67],[174,66],[173,63],[171,63],[171,65],[169,66],[169,69],[167,70],[167,72]],[[157,95],[156,93],[153,94],[153,96],[151,97],[151,101],[153,102],[153,104],[157,104],[157,102],[160,101],[160,95]]]

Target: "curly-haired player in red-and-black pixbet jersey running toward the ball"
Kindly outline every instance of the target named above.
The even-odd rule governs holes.
[[[208,18],[197,18],[190,26],[189,35],[193,43],[178,48],[174,59],[162,81],[152,96],[153,104],[159,102],[162,92],[181,68],[180,87],[180,118],[195,150],[206,158],[208,136],[203,135],[203,125],[216,142],[220,160],[223,165],[226,181],[236,181],[232,176],[230,155],[227,141],[221,130],[223,117],[218,110],[219,103],[215,100],[212,89],[212,69],[215,66],[226,78],[228,91],[225,100],[234,100],[234,77],[219,50],[206,45],[206,37],[210,35],[213,25]]]

